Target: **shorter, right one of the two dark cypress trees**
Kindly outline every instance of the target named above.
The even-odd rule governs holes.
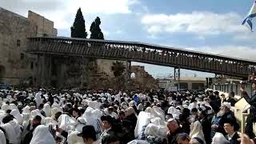
[[[96,18],[94,22],[90,25],[90,38],[93,39],[104,39],[104,34],[102,33],[101,28],[99,25],[101,24],[101,19]]]

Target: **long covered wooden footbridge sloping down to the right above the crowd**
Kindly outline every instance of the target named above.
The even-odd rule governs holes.
[[[256,62],[240,58],[150,45],[142,42],[87,38],[28,38],[26,52],[38,55],[50,54],[144,62],[239,78],[247,78],[248,74],[251,74],[256,68]]]

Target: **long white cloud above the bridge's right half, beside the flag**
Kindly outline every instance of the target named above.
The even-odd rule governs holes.
[[[236,13],[211,12],[146,14],[141,20],[150,34],[186,32],[197,34],[200,38],[206,35],[244,33],[248,30],[241,25],[241,21],[242,17]]]

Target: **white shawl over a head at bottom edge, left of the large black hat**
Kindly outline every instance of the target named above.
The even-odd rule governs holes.
[[[55,140],[48,126],[37,126],[34,129],[30,144],[55,144]]]

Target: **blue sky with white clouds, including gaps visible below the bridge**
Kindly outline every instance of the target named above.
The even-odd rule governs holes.
[[[27,15],[32,10],[54,21],[58,36],[70,36],[78,7],[86,20],[86,31],[97,16],[106,39],[138,41],[188,50],[256,60],[254,39],[241,26],[253,0],[0,0],[3,8]],[[156,75],[173,73],[173,68],[146,66]],[[182,70],[182,76],[194,76]],[[199,73],[198,76],[213,76]]]

